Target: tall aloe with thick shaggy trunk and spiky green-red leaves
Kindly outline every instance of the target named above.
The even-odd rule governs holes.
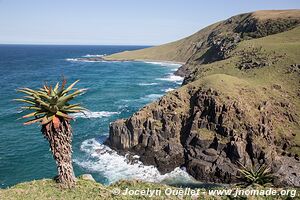
[[[70,121],[73,119],[70,113],[78,113],[85,110],[80,104],[69,102],[78,95],[84,93],[85,89],[75,89],[79,80],[65,88],[66,80],[60,86],[54,87],[44,85],[34,90],[20,88],[17,91],[24,93],[21,99],[15,99],[27,106],[23,110],[31,111],[22,118],[29,119],[24,125],[39,123],[41,132],[48,140],[53,158],[57,164],[58,175],[56,180],[62,187],[71,188],[75,185],[75,175],[72,166],[72,127]]]

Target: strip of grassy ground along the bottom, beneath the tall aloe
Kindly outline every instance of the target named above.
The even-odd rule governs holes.
[[[232,187],[232,195],[212,195],[211,191],[216,191],[221,188],[204,189],[204,188],[176,188],[168,185],[158,183],[145,183],[141,181],[119,181],[110,186],[104,186],[100,183],[96,183],[90,180],[78,179],[76,187],[73,189],[62,190],[58,188],[55,181],[50,179],[43,179],[31,182],[25,182],[17,184],[11,188],[0,189],[1,200],[106,200],[106,199],[120,199],[120,200],[136,200],[136,199],[155,199],[155,200],[194,200],[194,199],[207,199],[207,200],[229,200],[236,199],[234,197],[236,189],[245,189],[237,186]],[[229,189],[229,188],[226,188]],[[248,187],[245,190],[250,189],[265,189],[263,187]],[[140,195],[125,193],[126,190],[131,191],[144,191]],[[279,193],[282,188],[276,189]],[[280,199],[291,199],[292,197],[299,196],[299,189],[289,189],[294,191],[289,195],[282,195]],[[152,191],[152,194],[147,191]],[[157,192],[158,191],[158,192]],[[192,193],[192,191],[194,193]],[[118,194],[120,192],[120,194]],[[198,194],[197,194],[198,193]],[[216,194],[216,193],[214,193]],[[251,196],[238,197],[239,199],[252,199],[252,200],[264,200],[265,196]],[[267,199],[279,199],[278,196],[268,196]]]

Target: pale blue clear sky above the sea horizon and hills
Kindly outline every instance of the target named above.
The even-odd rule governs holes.
[[[0,0],[0,44],[158,45],[299,0]]]

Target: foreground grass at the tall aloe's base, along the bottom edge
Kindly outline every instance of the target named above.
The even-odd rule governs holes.
[[[129,195],[115,195],[112,193],[114,189],[125,191],[126,188],[129,190],[160,190],[160,196],[148,197],[148,196],[129,196]],[[76,188],[74,189],[59,189],[57,184],[53,180],[43,179],[38,181],[31,181],[17,184],[8,189],[0,189],[0,199],[1,200],[53,200],[53,199],[82,199],[82,200],[106,200],[106,199],[124,199],[124,200],[135,200],[135,199],[246,199],[245,197],[233,198],[227,196],[210,196],[207,191],[204,189],[199,190],[198,198],[191,196],[177,196],[177,195],[165,195],[165,191],[167,188],[176,189],[174,187],[170,187],[162,184],[154,184],[154,183],[145,183],[140,181],[119,181],[111,186],[103,186],[100,183],[96,183],[89,180],[78,180]],[[180,189],[180,188],[177,188]],[[227,188],[228,189],[228,188]],[[234,189],[234,188],[233,188]],[[251,188],[248,188],[251,189]],[[261,187],[257,189],[263,189]],[[278,189],[280,190],[280,189]],[[297,190],[297,194],[299,194],[299,190]],[[288,196],[282,196],[278,198],[278,196],[272,197],[264,197],[264,196],[252,196],[247,199],[257,199],[257,200],[271,200],[271,199],[290,199]]]

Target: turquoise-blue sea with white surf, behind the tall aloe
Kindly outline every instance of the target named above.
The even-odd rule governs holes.
[[[109,184],[119,179],[163,181],[185,173],[176,169],[160,175],[151,166],[130,165],[103,141],[109,123],[129,117],[145,104],[180,85],[182,79],[172,75],[179,66],[145,62],[82,62],[77,58],[111,54],[141,46],[29,46],[0,45],[0,187],[56,175],[47,141],[37,125],[23,126],[17,120],[24,113],[18,98],[19,87],[40,87],[55,83],[64,76],[78,87],[88,88],[78,98],[90,112],[76,115],[72,123],[73,165],[75,174],[91,173]]]

